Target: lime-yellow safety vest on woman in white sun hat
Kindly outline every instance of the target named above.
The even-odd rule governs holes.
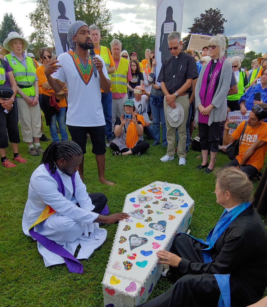
[[[27,96],[37,95],[37,93],[35,94],[35,90],[33,87],[33,83],[36,76],[36,68],[33,65],[32,59],[26,56],[27,69],[21,64],[21,62],[15,56],[11,57],[11,54],[7,54],[6,59],[11,68],[13,68],[13,75],[17,85],[25,85],[25,86],[31,85],[31,87],[21,88],[21,91]],[[17,94],[16,96],[21,97],[21,95],[19,94]]]

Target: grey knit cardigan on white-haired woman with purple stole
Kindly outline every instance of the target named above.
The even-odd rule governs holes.
[[[195,103],[196,103],[195,122],[198,122],[198,114],[199,114],[198,106],[201,104],[199,92],[202,84],[202,78],[205,69],[207,68],[207,65],[208,64],[205,64],[202,67],[195,88]],[[223,122],[226,119],[227,95],[230,89],[231,79],[232,79],[232,65],[227,60],[225,60],[222,66],[219,84],[211,102],[214,107],[209,113],[209,121],[208,121],[209,126],[212,124],[212,122]]]

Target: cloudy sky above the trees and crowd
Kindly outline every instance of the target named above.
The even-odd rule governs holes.
[[[266,0],[208,2],[209,4],[199,0],[184,0],[182,37],[186,36],[187,28],[192,26],[195,17],[211,7],[218,7],[227,19],[224,28],[228,37],[246,36],[246,51],[267,51]],[[26,37],[32,33],[33,28],[26,15],[35,9],[35,0],[0,0],[0,7],[2,14],[13,14]],[[156,31],[156,0],[107,0],[107,8],[112,14],[112,32],[141,35]]]

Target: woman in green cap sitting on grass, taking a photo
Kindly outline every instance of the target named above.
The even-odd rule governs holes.
[[[141,156],[143,152],[149,149],[149,143],[144,141],[144,118],[141,115],[134,114],[134,102],[127,99],[124,103],[124,114],[116,119],[114,134],[116,138],[110,142],[110,148],[114,150],[113,156],[127,156],[128,154],[137,154]],[[131,118],[130,118],[131,117]]]

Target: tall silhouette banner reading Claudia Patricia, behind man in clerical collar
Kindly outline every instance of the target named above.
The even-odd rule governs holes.
[[[168,35],[172,31],[182,32],[184,0],[157,0],[156,17],[156,80],[160,73],[161,63],[171,56],[168,50]]]

